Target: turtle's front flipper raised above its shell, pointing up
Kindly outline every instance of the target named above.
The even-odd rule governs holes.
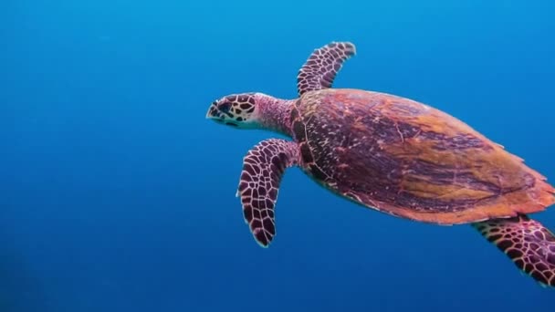
[[[298,71],[298,95],[301,96],[305,92],[322,88],[331,88],[333,79],[343,63],[355,54],[356,49],[351,42],[332,42],[314,50]]]

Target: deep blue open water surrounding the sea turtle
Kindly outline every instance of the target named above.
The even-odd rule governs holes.
[[[362,209],[298,169],[278,235],[248,232],[246,151],[276,137],[204,115],[296,97],[316,47],[334,86],[466,121],[555,181],[555,3],[16,1],[0,10],[0,310],[550,310],[555,292],[470,226]],[[555,210],[535,217],[555,229]]]

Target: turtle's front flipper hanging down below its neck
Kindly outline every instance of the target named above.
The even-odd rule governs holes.
[[[276,235],[274,207],[285,170],[298,164],[297,143],[269,139],[259,142],[243,159],[237,189],[245,221],[257,243],[267,247]]]

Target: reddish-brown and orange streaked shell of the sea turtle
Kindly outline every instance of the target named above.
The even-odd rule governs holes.
[[[291,120],[309,176],[384,213],[464,224],[555,203],[553,187],[517,156],[411,99],[323,89],[298,99]]]

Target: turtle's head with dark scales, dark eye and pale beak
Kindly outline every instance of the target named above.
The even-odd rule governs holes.
[[[210,105],[206,118],[228,126],[253,129],[259,128],[259,103],[267,96],[260,93],[232,94],[217,99]]]

